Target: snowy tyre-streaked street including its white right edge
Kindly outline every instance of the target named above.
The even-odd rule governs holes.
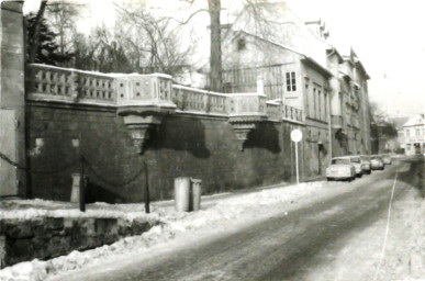
[[[423,158],[411,158],[351,183],[310,184],[324,192],[289,202],[264,204],[265,191],[242,195],[253,204],[246,196],[257,194],[257,204],[239,206],[233,220],[177,231],[143,252],[57,272],[49,280],[420,280],[424,204],[415,188],[423,171]],[[227,203],[232,200],[237,201]],[[232,204],[220,205],[232,215]]]

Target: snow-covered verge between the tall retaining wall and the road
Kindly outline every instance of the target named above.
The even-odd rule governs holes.
[[[345,187],[345,188],[342,188]],[[152,213],[144,213],[143,204],[104,204],[94,203],[87,206],[86,213],[76,210],[71,203],[58,203],[44,200],[20,200],[10,206],[0,207],[0,217],[27,218],[32,216],[111,216],[155,218],[164,225],[155,226],[149,232],[134,237],[127,237],[110,246],[99,247],[87,251],[71,254],[47,261],[33,260],[20,262],[0,270],[0,280],[45,280],[48,276],[63,273],[67,270],[79,269],[89,265],[101,265],[104,260],[121,259],[125,255],[144,252],[154,245],[166,243],[177,234],[187,233],[202,227],[214,228],[223,221],[244,222],[259,220],[278,212],[290,212],[300,204],[307,204],[323,200],[337,193],[353,190],[347,183],[309,182],[299,186],[287,186],[273,189],[259,190],[253,193],[236,194],[228,198],[208,198],[198,212],[175,212],[170,202],[157,202],[152,206]],[[206,205],[206,207],[204,206]]]

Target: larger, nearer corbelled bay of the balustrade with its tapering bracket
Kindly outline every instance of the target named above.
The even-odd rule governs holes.
[[[134,146],[144,153],[153,128],[165,115],[176,111],[171,101],[171,77],[166,75],[125,76],[118,78],[118,114],[131,133]]]

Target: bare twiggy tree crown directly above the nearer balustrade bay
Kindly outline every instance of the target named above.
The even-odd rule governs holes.
[[[149,13],[143,2],[116,5],[118,40],[142,72],[160,71],[178,76],[188,65],[191,46],[184,44],[180,26],[171,19]]]

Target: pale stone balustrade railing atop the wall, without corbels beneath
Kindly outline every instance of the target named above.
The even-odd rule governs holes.
[[[30,100],[63,101],[120,108],[166,108],[171,111],[221,115],[258,116],[302,122],[302,111],[266,102],[262,93],[217,93],[172,85],[161,74],[101,74],[40,64],[29,65],[26,92]]]

